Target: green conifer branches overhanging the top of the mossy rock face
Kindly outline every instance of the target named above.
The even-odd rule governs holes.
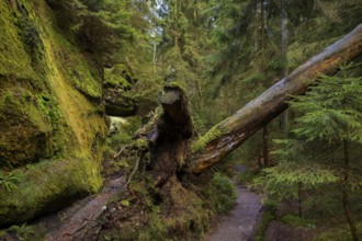
[[[79,46],[89,50],[102,67],[124,62],[136,70],[137,65],[145,60],[144,54],[151,51],[148,42],[150,36],[146,33],[148,34],[154,15],[146,1],[47,2],[59,11],[58,24],[68,34],[75,35]]]

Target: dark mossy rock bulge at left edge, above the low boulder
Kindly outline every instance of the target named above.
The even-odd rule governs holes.
[[[52,154],[52,125],[34,100],[23,88],[0,92],[0,167],[16,167]]]

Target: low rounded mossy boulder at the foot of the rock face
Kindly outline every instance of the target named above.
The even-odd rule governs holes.
[[[0,187],[0,225],[29,221],[36,215],[97,192],[102,183],[98,169],[95,163],[77,159],[29,165],[16,190],[9,193]]]

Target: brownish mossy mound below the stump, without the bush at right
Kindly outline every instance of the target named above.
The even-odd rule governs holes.
[[[173,177],[162,190],[150,186],[148,177],[132,184],[135,202],[121,210],[117,228],[100,240],[201,240],[210,223],[202,199]]]

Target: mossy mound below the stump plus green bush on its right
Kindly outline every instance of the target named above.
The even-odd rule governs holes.
[[[215,215],[235,205],[234,186],[220,173],[211,183],[185,184],[194,185],[191,190],[173,180],[170,193],[160,193],[147,180],[147,173],[135,176],[133,195],[124,193],[108,207],[113,211],[105,216],[110,227],[102,230],[101,240],[199,240]]]

